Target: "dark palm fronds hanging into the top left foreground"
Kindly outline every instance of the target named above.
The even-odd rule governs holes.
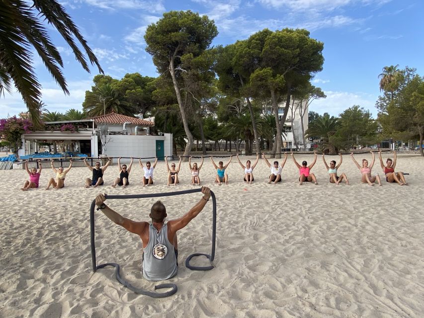
[[[77,26],[57,0],[0,0],[0,3],[0,94],[4,90],[10,93],[13,82],[31,113],[34,125],[39,127],[41,84],[32,67],[31,46],[58,85],[69,94],[61,70],[62,57],[50,41],[45,21],[59,31],[85,71],[90,72],[74,37],[83,46],[91,65],[95,64],[100,73],[103,70]]]

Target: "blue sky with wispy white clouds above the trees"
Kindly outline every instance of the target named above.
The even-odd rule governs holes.
[[[270,30],[306,28],[324,42],[324,69],[313,84],[327,94],[310,110],[337,116],[352,105],[371,111],[380,91],[378,75],[384,66],[415,67],[424,75],[424,1],[422,0],[67,0],[60,1],[79,26],[106,75],[121,79],[126,73],[157,76],[145,51],[146,27],[170,10],[192,10],[215,21],[218,36],[213,44],[227,45],[251,34]],[[35,56],[42,83],[43,101],[50,111],[82,109],[94,67],[86,73],[58,32],[49,27],[53,43],[64,59],[70,96],[49,76]],[[17,115],[26,107],[19,94],[0,97],[0,118]]]

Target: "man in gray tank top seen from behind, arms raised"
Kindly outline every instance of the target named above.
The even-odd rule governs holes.
[[[103,194],[97,195],[95,203],[110,220],[127,231],[138,234],[143,242],[143,276],[147,280],[160,281],[170,279],[178,270],[178,245],[176,232],[184,228],[200,211],[203,210],[211,196],[211,190],[202,187],[202,198],[184,216],[165,223],[167,210],[161,201],[157,201],[150,209],[148,222],[135,222],[124,218],[104,204]],[[172,252],[172,247],[173,251]]]

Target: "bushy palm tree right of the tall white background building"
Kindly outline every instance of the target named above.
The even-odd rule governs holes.
[[[324,151],[324,153],[336,155],[338,153],[338,149],[332,143],[331,137],[336,134],[336,131],[339,127],[339,118],[334,116],[330,117],[329,114],[324,114],[324,116],[320,116],[320,118],[309,125],[309,128],[305,131],[305,136],[320,136],[322,140],[321,149]]]

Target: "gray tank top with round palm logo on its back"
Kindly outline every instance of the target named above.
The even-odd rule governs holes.
[[[168,224],[159,233],[151,224],[149,243],[144,248],[144,278],[152,281],[166,280],[175,276],[177,270],[174,246],[168,240]]]

